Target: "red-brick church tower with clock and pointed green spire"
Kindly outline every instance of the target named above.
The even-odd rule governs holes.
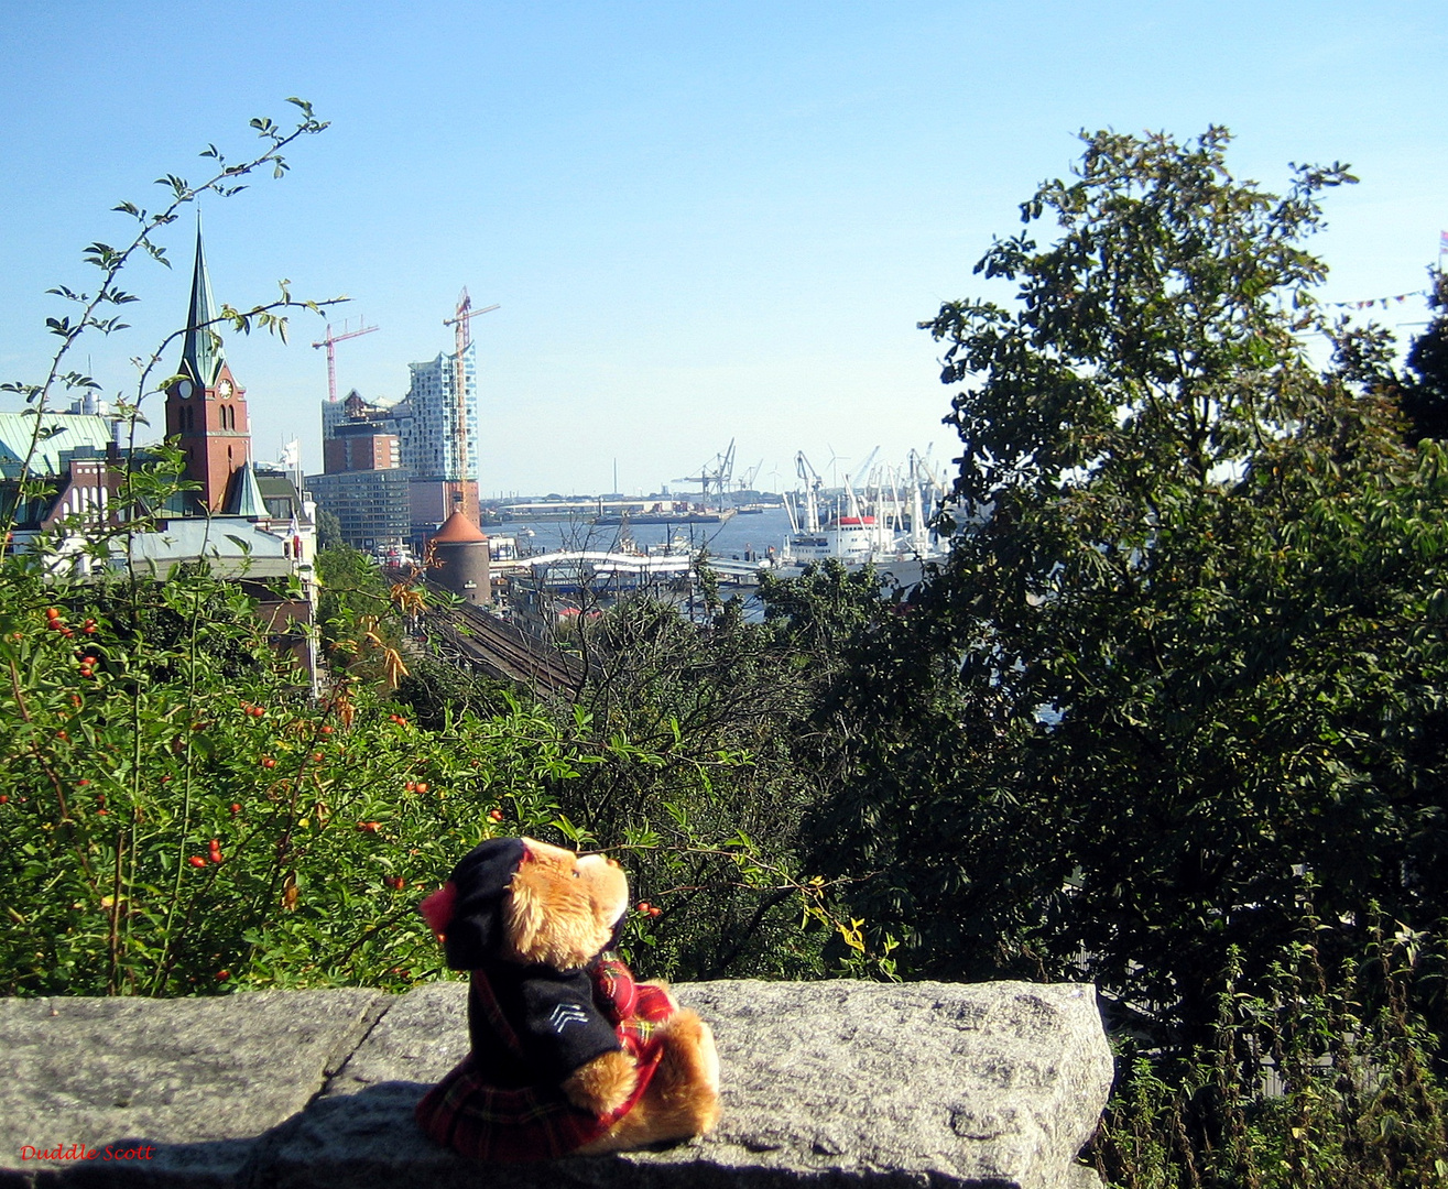
[[[236,472],[251,462],[252,429],[246,390],[237,387],[222,353],[222,336],[211,320],[216,303],[201,249],[201,220],[195,224],[195,271],[191,275],[191,308],[181,349],[181,377],[167,390],[167,437],[185,450],[185,476],[201,485],[200,503],[213,514],[227,507]]]

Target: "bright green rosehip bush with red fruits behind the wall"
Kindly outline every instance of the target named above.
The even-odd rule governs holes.
[[[411,889],[597,762],[518,707],[434,734],[359,682],[314,702],[207,575],[125,594],[7,563],[4,993],[405,983],[436,966]]]

